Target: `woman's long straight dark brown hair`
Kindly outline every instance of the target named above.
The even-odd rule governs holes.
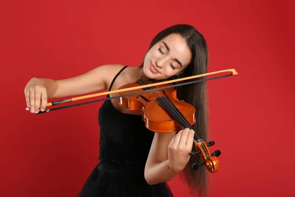
[[[168,80],[206,73],[208,68],[207,42],[204,36],[191,25],[179,24],[161,31],[152,39],[148,50],[158,41],[171,33],[178,33],[185,39],[188,47],[191,50],[192,59],[189,66],[185,68],[183,73],[173,76]],[[141,64],[141,67],[143,65],[144,62]],[[189,85],[178,86],[175,88],[177,90],[177,99],[183,99],[185,102],[192,104],[196,108],[196,123],[193,125],[193,128],[207,142],[208,126],[206,82],[198,82]],[[192,164],[194,163],[201,163],[201,158],[198,155],[190,157],[188,164],[179,175],[182,180],[187,183],[189,188],[191,188],[191,194],[206,196],[207,169],[205,166],[201,166],[198,170],[193,170]]]

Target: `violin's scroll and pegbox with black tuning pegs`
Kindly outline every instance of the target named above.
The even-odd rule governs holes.
[[[221,155],[221,151],[216,150],[214,153],[210,154],[210,151],[208,149],[208,146],[213,146],[215,142],[210,141],[208,143],[205,143],[204,141],[197,142],[196,140],[194,140],[194,144],[196,147],[196,151],[190,153],[190,155],[199,154],[203,162],[199,164],[193,164],[192,168],[194,170],[198,170],[200,166],[205,165],[209,172],[217,172],[219,163],[217,157]]]

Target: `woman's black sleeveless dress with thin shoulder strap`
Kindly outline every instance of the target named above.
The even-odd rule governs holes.
[[[125,67],[115,76],[109,90]],[[149,185],[145,180],[154,132],[146,128],[142,117],[120,113],[106,100],[99,109],[98,122],[100,162],[78,197],[173,197],[167,183]]]

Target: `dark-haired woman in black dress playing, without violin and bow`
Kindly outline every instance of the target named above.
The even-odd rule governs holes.
[[[26,88],[27,105],[44,111],[48,98],[117,90],[138,79],[176,79],[207,72],[207,43],[190,25],[175,25],[158,33],[141,66],[104,65],[63,80],[32,78]],[[196,108],[195,131],[207,140],[206,83],[178,86],[177,98]],[[108,95],[113,97],[116,95]],[[42,99],[41,99],[42,97]],[[154,133],[141,113],[128,111],[118,99],[106,100],[98,113],[100,162],[79,197],[172,197],[167,181],[178,173],[192,192],[206,194],[206,168],[195,171],[198,156],[189,156],[194,131]],[[167,159],[168,158],[168,159]]]

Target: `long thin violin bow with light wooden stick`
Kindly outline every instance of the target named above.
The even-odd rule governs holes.
[[[142,86],[137,86],[137,87],[132,87],[132,88],[125,88],[125,89],[113,90],[113,91],[108,91],[108,92],[103,92],[103,93],[97,93],[97,94],[91,94],[91,95],[86,95],[86,96],[75,97],[75,98],[71,98],[71,99],[52,101],[52,102],[47,103],[46,107],[57,105],[57,104],[62,104],[62,103],[66,103],[66,102],[81,100],[81,99],[88,99],[88,98],[99,97],[99,96],[103,96],[103,95],[115,94],[115,93],[119,93],[119,92],[125,92],[125,91],[137,90],[137,89],[145,89],[145,88],[149,88],[149,87],[153,87],[153,86],[164,85],[164,84],[168,84],[168,83],[175,83],[175,82],[179,82],[179,81],[204,77],[204,76],[208,76],[208,75],[212,75],[212,74],[218,74],[218,73],[222,73],[222,72],[231,72],[231,74],[217,76],[217,77],[211,77],[211,78],[207,78],[207,79],[191,81],[191,82],[186,82],[186,83],[181,83],[181,84],[175,84],[175,85],[171,85],[171,86],[165,86],[165,87],[162,87],[162,88],[155,88],[155,89],[145,90],[145,91],[141,91],[141,92],[135,92],[135,93],[131,93],[131,94],[116,96],[116,97],[92,100],[92,101],[88,101],[88,102],[83,102],[83,103],[78,103],[78,104],[73,104],[73,105],[67,105],[67,106],[62,106],[62,107],[57,107],[57,108],[52,108],[52,109],[45,109],[44,111],[39,110],[39,112],[37,114],[41,114],[41,113],[45,113],[45,112],[49,112],[49,111],[54,111],[54,110],[58,110],[58,109],[63,109],[63,108],[67,108],[67,107],[73,107],[73,106],[78,106],[78,105],[83,105],[83,104],[89,104],[89,103],[92,103],[92,102],[98,102],[98,101],[103,101],[103,100],[108,100],[108,99],[116,99],[116,98],[119,98],[119,97],[125,97],[125,96],[135,95],[135,94],[139,94],[139,93],[156,91],[156,90],[161,90],[161,89],[165,89],[165,88],[177,87],[177,86],[182,86],[182,85],[186,85],[186,84],[197,83],[197,82],[202,82],[202,81],[208,81],[208,80],[212,80],[212,79],[228,77],[228,76],[233,76],[233,75],[238,74],[235,69],[226,69],[226,70],[220,70],[220,71],[215,71],[215,72],[208,72],[208,73],[194,75],[194,76],[190,76],[190,77],[183,77],[183,78],[180,78],[180,79],[174,79],[174,80],[169,80],[169,81],[152,83],[152,84],[147,84],[147,85],[142,85]],[[41,107],[41,105],[39,105],[39,108],[40,107]],[[29,110],[29,109],[30,109],[29,107],[26,108],[26,110]]]

